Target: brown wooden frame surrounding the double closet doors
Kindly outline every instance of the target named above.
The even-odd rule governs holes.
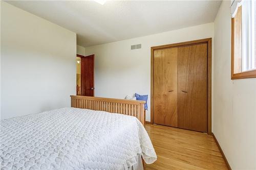
[[[201,43],[207,43],[207,133],[211,135],[211,38],[151,47],[151,124],[154,124],[154,51]]]

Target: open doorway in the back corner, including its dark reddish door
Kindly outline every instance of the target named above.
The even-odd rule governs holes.
[[[94,96],[94,55],[76,55],[76,95]]]

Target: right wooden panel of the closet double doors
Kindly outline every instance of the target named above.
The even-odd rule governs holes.
[[[207,132],[207,43],[178,48],[178,127]]]

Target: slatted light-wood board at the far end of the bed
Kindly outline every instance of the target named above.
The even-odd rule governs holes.
[[[71,107],[101,110],[137,117],[145,125],[144,101],[71,95]]]

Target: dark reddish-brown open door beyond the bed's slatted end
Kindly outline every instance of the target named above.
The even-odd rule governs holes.
[[[81,95],[94,96],[94,55],[81,57]]]

